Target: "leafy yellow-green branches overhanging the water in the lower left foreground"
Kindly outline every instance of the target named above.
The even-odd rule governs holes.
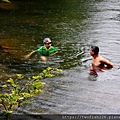
[[[3,87],[9,90],[9,92],[0,94],[0,104],[4,108],[3,114],[11,114],[18,107],[29,101],[29,98],[41,93],[45,83],[40,80],[53,77],[55,72],[61,72],[61,70],[47,68],[39,75],[30,78],[26,78],[22,74],[17,74],[15,80],[12,78],[8,79]],[[27,80],[27,82],[21,85],[21,80]]]

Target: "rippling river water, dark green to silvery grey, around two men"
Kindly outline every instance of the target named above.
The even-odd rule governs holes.
[[[63,72],[43,80],[43,93],[18,113],[82,114],[120,113],[120,1],[119,0],[35,0],[0,3],[1,84],[16,73],[36,75],[46,67]],[[59,53],[45,64],[36,55],[24,55],[50,37]],[[114,68],[88,74],[91,45],[114,63]]]

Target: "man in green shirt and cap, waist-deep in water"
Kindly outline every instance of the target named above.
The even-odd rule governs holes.
[[[40,48],[30,52],[28,55],[25,56],[26,59],[30,58],[31,55],[35,53],[40,53],[41,59],[43,61],[46,61],[47,58],[45,56],[52,56],[57,53],[57,49],[52,46],[52,42],[50,38],[45,38],[43,40],[44,46],[41,46]]]

